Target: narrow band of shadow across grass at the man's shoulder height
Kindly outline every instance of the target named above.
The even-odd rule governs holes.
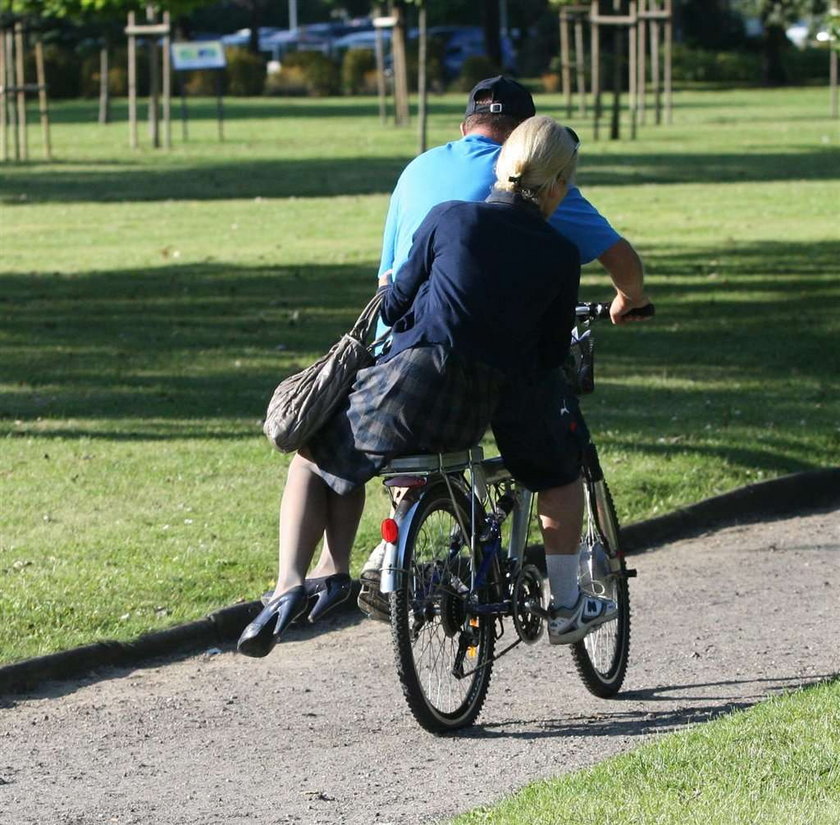
[[[333,197],[389,194],[406,157],[236,160],[57,165],[39,174],[16,167],[0,179],[0,203],[220,200],[230,198]],[[745,181],[836,180],[836,149],[796,153],[590,155],[582,159],[587,186],[645,183],[732,183]]]

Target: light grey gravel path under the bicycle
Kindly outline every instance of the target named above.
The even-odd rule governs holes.
[[[840,671],[840,511],[636,556],[625,692],[565,649],[496,665],[479,724],[408,714],[385,625],[343,617],[264,660],[225,651],[0,700],[3,825],[428,823]]]

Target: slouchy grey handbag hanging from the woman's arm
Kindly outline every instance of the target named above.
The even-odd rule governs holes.
[[[376,360],[374,349],[385,336],[366,343],[376,326],[385,290],[380,289],[330,351],[277,385],[265,414],[263,432],[281,452],[300,449],[350,394],[356,373]]]

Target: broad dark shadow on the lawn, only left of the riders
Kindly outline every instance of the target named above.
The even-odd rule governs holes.
[[[274,385],[352,324],[373,292],[371,271],[205,264],[0,276],[0,418],[256,421]],[[106,429],[170,436],[160,424],[145,436]],[[206,422],[187,430],[214,437]]]

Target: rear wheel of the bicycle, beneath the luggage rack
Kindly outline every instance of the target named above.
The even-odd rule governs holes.
[[[461,521],[469,525],[467,497],[454,490]],[[493,668],[492,617],[470,619],[459,581],[469,587],[473,572],[469,536],[461,528],[444,482],[426,489],[409,525],[405,573],[390,595],[391,635],[397,675],[417,722],[431,733],[471,725],[484,704]],[[469,529],[467,527],[467,529]],[[457,544],[461,549],[453,556]],[[459,581],[456,581],[459,580]],[[462,640],[474,646],[460,653],[468,675],[452,672]]]

